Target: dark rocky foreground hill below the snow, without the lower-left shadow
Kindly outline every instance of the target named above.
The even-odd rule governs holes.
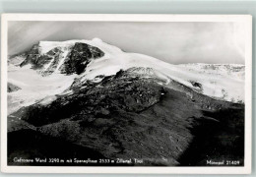
[[[192,89],[191,96],[127,71],[98,78],[101,82],[74,85],[72,94],[22,108],[13,116],[42,135],[106,158],[144,160],[137,165],[200,165],[208,158],[230,158],[228,151],[243,159],[243,147],[236,143],[243,141],[244,105]],[[206,125],[211,131],[202,131]]]

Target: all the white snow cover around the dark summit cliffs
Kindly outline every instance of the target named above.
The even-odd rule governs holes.
[[[104,56],[93,60],[88,65],[87,70],[79,76],[62,75],[58,72],[58,69],[64,63],[70,46],[76,42],[96,46],[104,52]],[[75,78],[79,78],[82,82],[94,80],[98,75],[114,75],[121,69],[127,70],[132,67],[152,68],[154,75],[151,71],[149,77],[157,77],[165,81],[165,85],[169,85],[170,80],[175,80],[197,90],[191,84],[191,82],[197,82],[202,85],[201,91],[206,95],[232,102],[244,102],[244,66],[242,65],[172,65],[147,55],[123,52],[118,47],[107,44],[98,38],[93,40],[39,42],[41,53],[46,53],[55,47],[60,47],[63,50],[63,58],[60,60],[56,71],[47,77],[41,77],[28,65],[20,68],[9,64],[8,82],[21,88],[18,91],[8,93],[11,102],[19,102],[19,104],[14,104],[16,106],[10,106],[12,108],[9,113],[45,97],[46,100],[42,101],[42,104],[54,100],[54,95],[68,89]]]

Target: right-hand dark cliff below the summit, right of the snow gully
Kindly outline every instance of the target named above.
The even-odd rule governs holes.
[[[87,43],[77,42],[73,47],[70,56],[65,60],[64,65],[61,67],[63,74],[81,74],[85,71],[87,65],[96,58],[102,57],[104,53]]]

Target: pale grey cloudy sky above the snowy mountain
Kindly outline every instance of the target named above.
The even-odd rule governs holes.
[[[29,50],[40,40],[102,39],[126,52],[171,64],[244,64],[244,29],[210,22],[9,22],[8,54]]]

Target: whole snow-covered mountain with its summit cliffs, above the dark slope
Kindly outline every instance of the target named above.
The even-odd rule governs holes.
[[[16,105],[9,108],[10,112],[59,94],[72,84],[99,82],[102,77],[98,76],[115,75],[120,70],[156,78],[168,88],[182,91],[173,85],[176,82],[213,98],[244,102],[242,65],[171,65],[147,55],[123,52],[98,38],[40,41],[30,51],[9,59],[8,70],[8,82],[21,88],[9,94]]]

